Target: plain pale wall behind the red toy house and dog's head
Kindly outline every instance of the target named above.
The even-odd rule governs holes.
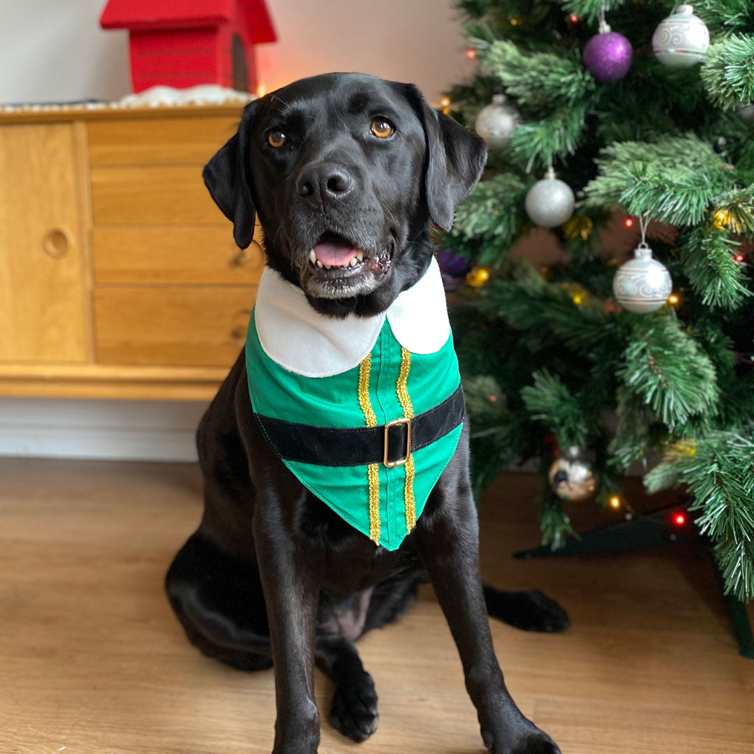
[[[268,90],[328,71],[413,81],[436,100],[468,70],[452,0],[267,0],[280,41],[260,45]],[[0,0],[0,103],[115,100],[130,91],[127,32],[105,0]]]

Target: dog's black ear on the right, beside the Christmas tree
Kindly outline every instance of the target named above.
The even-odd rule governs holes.
[[[479,182],[487,161],[487,145],[474,131],[431,107],[424,95],[407,84],[408,99],[425,130],[425,196],[435,225],[449,231],[456,205]]]

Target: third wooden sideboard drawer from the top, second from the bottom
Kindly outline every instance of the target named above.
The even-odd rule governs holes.
[[[255,284],[265,266],[262,229],[241,251],[231,224],[94,228],[94,280],[107,283]]]

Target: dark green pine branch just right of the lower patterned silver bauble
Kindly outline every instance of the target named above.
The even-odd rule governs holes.
[[[679,244],[683,271],[704,305],[735,309],[751,296],[743,266],[734,261],[736,245],[728,234],[704,225]]]

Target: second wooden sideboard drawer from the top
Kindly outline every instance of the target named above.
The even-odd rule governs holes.
[[[93,167],[94,225],[225,225],[201,165]]]

